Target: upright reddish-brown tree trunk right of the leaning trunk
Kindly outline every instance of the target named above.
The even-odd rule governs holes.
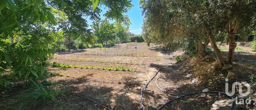
[[[235,43],[235,33],[230,32],[229,34],[229,55],[227,56],[227,63],[233,64],[235,47],[237,47],[237,43]]]

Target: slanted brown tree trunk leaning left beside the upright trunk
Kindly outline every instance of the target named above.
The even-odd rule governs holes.
[[[217,56],[219,62],[223,66],[224,65],[224,61],[223,61],[222,56],[221,56],[221,51],[219,50],[219,48],[218,48],[218,46],[217,46],[217,44],[215,42],[213,33],[212,32],[207,32],[207,36],[208,36],[208,38],[210,40],[211,46],[213,47],[213,50],[215,51],[216,56]]]

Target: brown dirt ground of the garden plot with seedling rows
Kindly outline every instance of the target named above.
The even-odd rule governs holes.
[[[135,49],[137,47],[137,49]],[[249,50],[249,47],[245,47]],[[243,49],[243,50],[246,50]],[[93,48],[86,50],[75,50],[71,52],[56,53],[50,62],[61,64],[78,65],[78,68],[53,68],[50,72],[65,74],[64,76],[49,77],[56,83],[56,88],[68,90],[79,94],[95,102],[98,102],[113,110],[138,110],[141,109],[140,95],[137,87],[143,87],[160,68],[163,68],[157,76],[149,83],[147,89],[154,90],[154,96],[143,94],[143,104],[146,110],[155,110],[168,102],[168,94],[182,96],[190,93],[201,92],[208,88],[210,91],[225,91],[225,85],[202,86],[193,73],[190,61],[176,63],[175,57],[183,55],[182,51],[161,51],[155,45],[146,46],[146,43],[125,43],[110,48]],[[245,62],[256,64],[255,53],[246,51],[236,53],[237,60],[246,59]],[[250,58],[249,58],[250,57]],[[176,63],[176,64],[175,64]],[[174,64],[174,65],[173,65]],[[83,69],[80,66],[83,65]],[[86,65],[94,66],[94,69],[86,69]],[[124,66],[137,71],[114,71],[96,69],[97,67]],[[70,75],[70,77],[67,77]],[[162,77],[160,77],[162,76]],[[75,77],[75,78],[74,78]],[[79,77],[82,77],[79,78]],[[155,80],[163,90],[160,91],[155,84]],[[91,80],[91,81],[89,81]],[[196,82],[193,83],[192,81]],[[102,81],[102,82],[96,82]],[[106,83],[110,82],[110,83]],[[113,83],[111,83],[113,82]],[[116,83],[119,82],[119,83]],[[120,83],[121,82],[121,83]],[[123,83],[135,82],[135,83]],[[6,91],[8,93],[8,91]],[[4,94],[0,94],[3,96]],[[11,98],[5,97],[5,98]],[[73,94],[66,93],[58,97],[59,103],[44,105],[44,110],[105,110],[101,106]],[[188,96],[174,101],[163,109],[165,110],[209,110],[211,105],[220,99],[228,99],[225,95],[219,94],[199,94]],[[11,102],[8,101],[8,102]],[[0,102],[0,107],[4,109],[14,109],[8,107],[8,102]],[[19,108],[15,108],[19,109]]]

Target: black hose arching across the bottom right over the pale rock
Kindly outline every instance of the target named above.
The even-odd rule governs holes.
[[[170,103],[170,102],[173,102],[174,100],[177,100],[177,99],[180,99],[180,98],[189,96],[189,95],[203,94],[203,93],[221,93],[221,94],[227,95],[226,93],[220,92],[220,91],[207,91],[207,92],[198,92],[198,93],[187,94],[187,95],[183,95],[183,96],[177,97],[177,98],[175,98],[175,99],[172,99],[172,100],[166,102],[166,103],[163,104],[161,107],[159,107],[157,110],[160,110],[162,107],[164,107],[165,105],[167,105],[167,104]],[[229,110],[233,110],[233,108],[234,108],[234,106],[235,106],[235,99],[234,99],[232,96],[229,96],[229,97],[232,99],[232,106],[231,106],[231,108],[230,108]]]

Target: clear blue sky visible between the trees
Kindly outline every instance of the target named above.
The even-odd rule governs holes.
[[[131,2],[134,6],[131,8],[131,10],[128,11],[128,13],[125,13],[124,15],[128,15],[130,18],[131,25],[129,26],[130,32],[134,34],[141,34],[141,26],[143,24],[143,17],[141,15],[141,8],[139,8],[139,0],[132,0]],[[104,7],[101,8],[102,13],[101,13],[101,18],[105,19],[103,14],[106,12]],[[111,21],[110,21],[111,22]],[[88,20],[88,24],[91,24],[92,21]],[[113,21],[111,22],[113,23]]]

